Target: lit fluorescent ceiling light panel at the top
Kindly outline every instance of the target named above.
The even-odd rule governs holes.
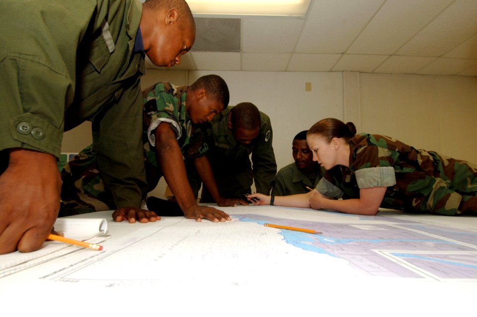
[[[187,0],[196,14],[305,16],[311,0]]]

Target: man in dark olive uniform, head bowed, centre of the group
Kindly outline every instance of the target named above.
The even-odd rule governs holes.
[[[254,104],[242,102],[227,107],[210,123],[205,130],[205,140],[220,195],[242,198],[242,194],[251,193],[253,182],[258,193],[268,195],[277,172],[270,118]],[[193,166],[187,167],[189,182],[197,197],[200,180]],[[200,202],[214,202],[205,188],[202,188]]]

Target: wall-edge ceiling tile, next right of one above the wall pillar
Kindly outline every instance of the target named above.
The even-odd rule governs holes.
[[[430,63],[436,60],[436,57],[419,56],[391,56],[381,64],[374,73],[384,74],[416,74]]]

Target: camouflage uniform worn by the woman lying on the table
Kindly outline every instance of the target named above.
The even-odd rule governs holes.
[[[325,196],[359,198],[360,188],[384,186],[383,208],[454,215],[477,195],[475,164],[382,135],[357,134],[349,146],[349,168],[334,166],[317,185]]]

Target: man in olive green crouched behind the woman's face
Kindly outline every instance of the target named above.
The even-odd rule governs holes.
[[[278,171],[272,195],[307,193],[313,190],[323,177],[325,169],[313,160],[313,153],[307,144],[307,132],[308,130],[302,131],[293,138],[292,154],[295,162]]]

